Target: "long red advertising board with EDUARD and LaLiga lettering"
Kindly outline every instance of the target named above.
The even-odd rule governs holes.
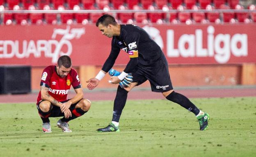
[[[169,64],[256,63],[256,24],[146,25]],[[0,65],[46,66],[61,55],[73,65],[103,65],[111,38],[95,25],[2,26]],[[116,64],[126,64],[121,50]]]

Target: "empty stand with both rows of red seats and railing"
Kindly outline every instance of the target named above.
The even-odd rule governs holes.
[[[244,3],[243,3],[244,4]],[[221,9],[221,10],[220,10]],[[0,11],[5,10],[99,10],[92,12],[19,13],[2,12],[0,22],[10,24],[94,23],[111,10],[121,23],[159,22],[256,22],[255,4],[243,6],[239,0],[0,0]],[[138,10],[144,10],[142,12]],[[145,12],[150,11],[150,12]],[[223,11],[226,10],[226,11]],[[152,12],[153,11],[153,12]]]

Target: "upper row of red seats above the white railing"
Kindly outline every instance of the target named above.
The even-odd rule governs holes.
[[[0,5],[4,4],[5,0],[0,0]],[[184,5],[187,9],[191,9],[194,5],[198,5],[201,9],[205,9],[208,4],[213,4],[213,7],[219,9],[222,4],[227,4],[231,9],[235,9],[235,6],[239,4],[239,0],[6,0],[9,9],[12,9],[15,5],[28,9],[30,5],[38,6],[39,9],[43,9],[44,5],[52,4],[54,9],[57,9],[59,5],[66,5],[70,9],[73,9],[75,5],[82,4],[84,9],[90,9],[94,5],[98,6],[98,9],[103,9],[105,6],[113,6],[113,9],[118,9],[120,5],[125,5],[129,9],[133,9],[135,5],[141,5],[143,9],[148,9],[150,5],[162,8],[164,5],[171,6],[177,9],[179,5]]]

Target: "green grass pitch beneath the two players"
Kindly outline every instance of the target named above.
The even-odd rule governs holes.
[[[199,131],[194,115],[167,100],[128,101],[121,132],[96,132],[112,119],[113,101],[92,102],[84,116],[44,134],[35,104],[0,104],[0,157],[255,157],[256,97],[191,99],[210,114]]]

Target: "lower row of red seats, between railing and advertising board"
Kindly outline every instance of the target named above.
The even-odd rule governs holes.
[[[102,13],[61,13],[60,18],[58,18],[55,13],[5,13],[3,16],[3,22],[5,24],[10,24],[10,22],[16,21],[17,24],[22,24],[25,20],[27,23],[30,20],[31,23],[46,23],[54,24],[57,21],[62,23],[73,23],[75,20],[77,23],[83,22],[96,22],[97,19],[102,15]],[[249,19],[251,17],[251,19]],[[167,22],[256,22],[256,13],[223,13],[218,12],[204,13],[196,12],[190,13],[187,11],[179,13],[119,13],[117,19],[122,23],[133,23],[135,22],[161,22],[163,19]],[[235,20],[235,21],[234,21]],[[249,20],[249,21],[248,21]],[[25,23],[25,24],[26,24]]]

